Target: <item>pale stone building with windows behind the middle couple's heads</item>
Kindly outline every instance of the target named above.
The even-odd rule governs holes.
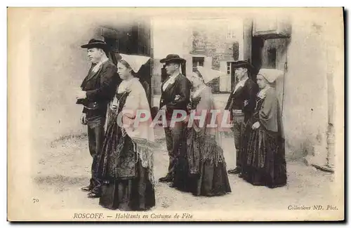
[[[183,73],[190,74],[197,66],[226,72],[225,76],[211,81],[209,86],[213,88],[213,93],[229,93],[234,85],[231,62],[243,57],[241,19],[187,20],[183,22],[182,30],[187,31],[183,35],[183,53],[179,53],[187,61]],[[161,93],[161,68],[159,60],[155,60],[152,79],[155,95]]]

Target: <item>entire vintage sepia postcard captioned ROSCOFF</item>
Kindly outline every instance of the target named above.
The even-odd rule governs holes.
[[[345,220],[343,13],[8,8],[8,220]]]

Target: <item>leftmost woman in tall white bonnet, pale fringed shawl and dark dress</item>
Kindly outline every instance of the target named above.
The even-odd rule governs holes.
[[[141,116],[137,116],[138,110],[150,114],[145,89],[135,77],[149,59],[121,54],[117,65],[122,81],[110,107],[112,113],[96,165],[103,181],[99,204],[104,208],[149,210],[155,206],[151,118],[134,125]]]

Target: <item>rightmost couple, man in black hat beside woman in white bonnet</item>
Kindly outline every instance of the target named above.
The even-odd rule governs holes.
[[[275,69],[260,69],[256,82],[249,78],[253,66],[235,63],[238,82],[225,109],[230,111],[239,174],[252,185],[270,188],[286,185],[286,160],[282,111],[274,89]]]

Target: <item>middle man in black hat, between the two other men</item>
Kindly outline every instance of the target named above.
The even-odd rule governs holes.
[[[166,146],[169,156],[168,173],[159,179],[160,182],[172,182],[180,145],[183,142],[185,123],[177,122],[174,127],[169,126],[175,110],[187,112],[190,102],[191,83],[186,76],[180,73],[180,66],[185,60],[179,55],[170,54],[160,60],[164,63],[168,79],[161,85],[161,100],[159,107],[165,110],[168,125],[164,128]]]

